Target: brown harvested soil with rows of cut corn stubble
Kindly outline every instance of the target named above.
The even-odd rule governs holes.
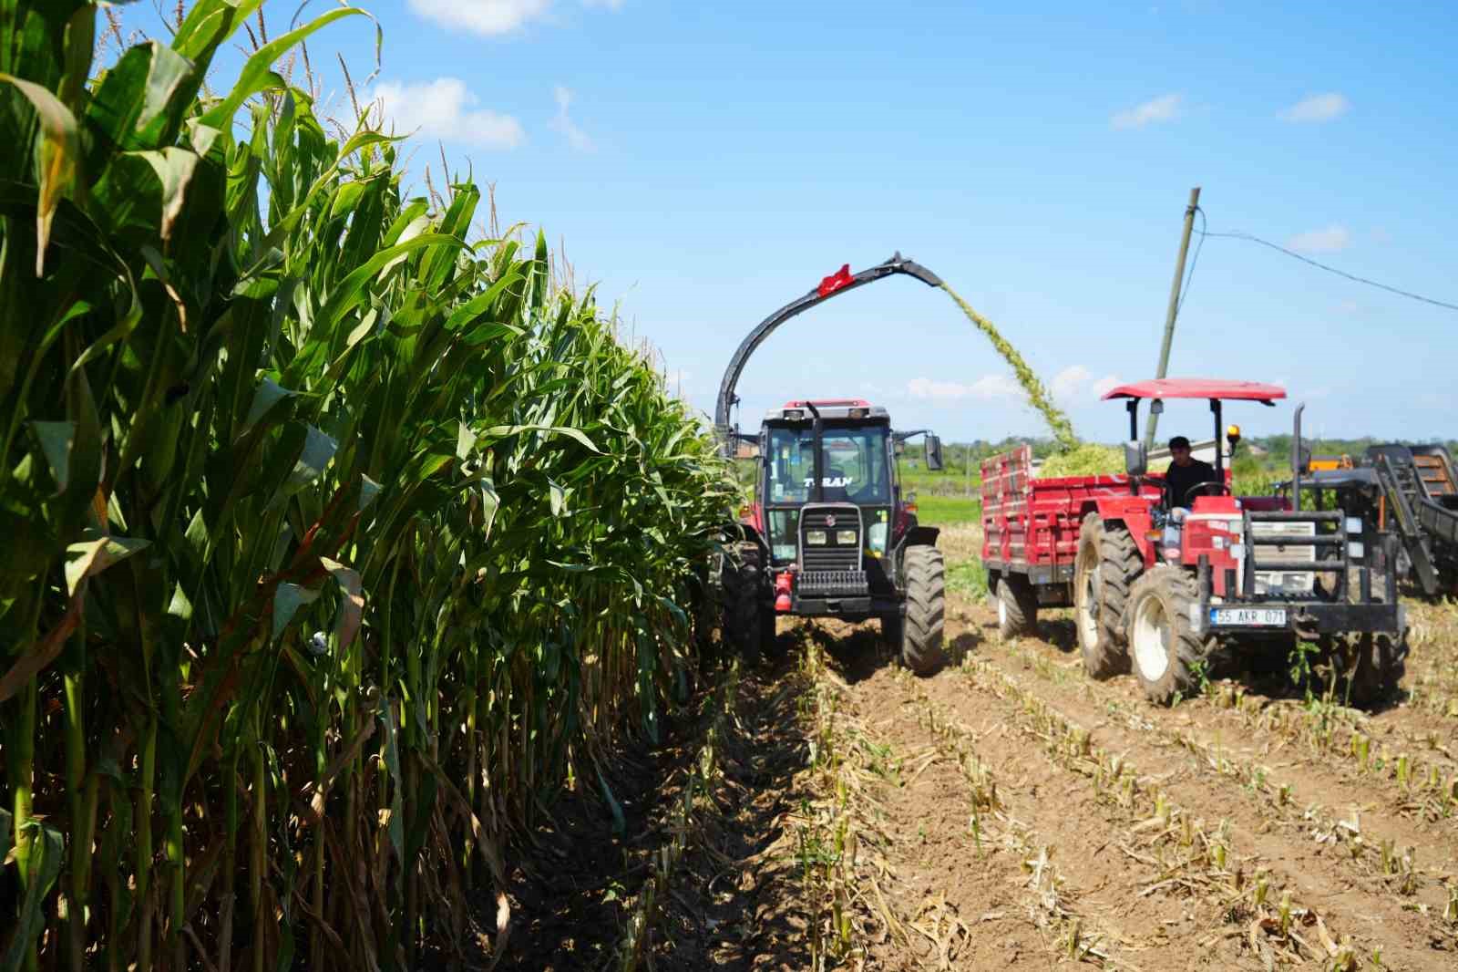
[[[1166,709],[1086,679],[1066,612],[1002,642],[968,590],[933,677],[783,620],[706,677],[614,768],[623,820],[558,813],[500,968],[1458,968],[1458,607],[1411,606],[1378,711],[1244,670]]]

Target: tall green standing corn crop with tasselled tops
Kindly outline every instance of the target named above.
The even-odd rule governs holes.
[[[0,969],[502,934],[512,838],[694,674],[698,422],[276,73],[362,12],[204,89],[260,3],[93,64],[95,4],[0,0]]]

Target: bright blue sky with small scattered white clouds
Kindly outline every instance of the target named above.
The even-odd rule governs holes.
[[[150,6],[127,26],[156,32]],[[273,35],[296,6],[265,6]],[[1123,409],[1095,388],[1153,375],[1191,185],[1212,232],[1458,302],[1448,4],[363,6],[385,34],[370,95],[421,127],[413,169],[437,175],[443,142],[494,182],[503,220],[564,242],[706,412],[757,321],[900,250],[1002,328],[1080,435],[1118,439]],[[362,80],[373,44],[346,20],[311,55]],[[343,108],[337,79],[324,98]],[[1328,435],[1452,438],[1455,328],[1212,238],[1171,375],[1282,382]],[[746,426],[789,397],[868,396],[949,439],[1041,432],[955,305],[908,279],[787,324],[739,393]],[[1289,406],[1233,412],[1248,435],[1289,429]],[[1203,404],[1162,423],[1207,426]]]

